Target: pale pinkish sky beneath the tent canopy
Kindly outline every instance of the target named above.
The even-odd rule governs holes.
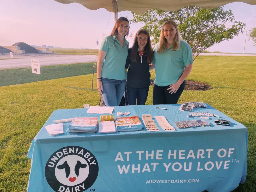
[[[230,3],[224,9],[231,9],[236,21],[246,23],[245,31],[246,28],[250,30],[253,26],[256,27],[256,5]],[[118,13],[118,17],[120,16],[133,18],[130,11]],[[97,49],[96,41],[101,44],[103,34],[110,34],[114,22],[113,13],[105,9],[89,10],[78,3],[0,0],[0,45],[11,46],[22,41],[38,46]],[[131,24],[130,31],[135,34],[141,27],[143,25],[140,23]],[[242,53],[244,42],[245,33],[207,50]],[[129,43],[132,45],[132,38],[129,38]],[[248,36],[245,53],[256,53],[256,47]]]

